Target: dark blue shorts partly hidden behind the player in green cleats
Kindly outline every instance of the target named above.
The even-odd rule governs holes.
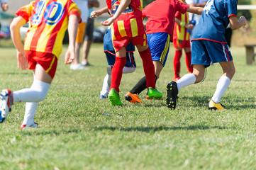
[[[106,60],[108,61],[108,65],[115,64],[116,55],[115,51],[104,51],[106,54]],[[126,52],[126,67],[136,67],[135,59],[133,52]]]

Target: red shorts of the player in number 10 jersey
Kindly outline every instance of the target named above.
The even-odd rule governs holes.
[[[57,57],[55,55],[28,50],[25,51],[25,55],[28,59],[28,69],[35,69],[36,64],[40,64],[53,79],[57,69]]]

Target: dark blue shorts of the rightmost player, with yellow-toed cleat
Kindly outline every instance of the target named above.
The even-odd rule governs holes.
[[[200,64],[209,67],[211,62],[228,62],[233,57],[228,43],[211,40],[193,40],[191,45],[191,64]]]

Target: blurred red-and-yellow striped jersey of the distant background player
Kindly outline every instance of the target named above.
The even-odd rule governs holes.
[[[177,12],[175,17],[180,21],[189,23],[189,13],[186,12],[184,14]],[[174,24],[174,40],[189,40],[189,33],[187,32],[187,28],[183,26],[179,26],[179,24]]]

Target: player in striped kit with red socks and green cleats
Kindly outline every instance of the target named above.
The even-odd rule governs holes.
[[[155,89],[155,71],[152,63],[150,49],[143,26],[142,1],[140,0],[107,0],[108,10],[111,10],[111,18],[102,22],[103,26],[112,25],[112,41],[116,51],[116,62],[111,72],[111,87],[108,98],[112,106],[122,105],[119,97],[119,85],[126,64],[126,46],[133,42],[138,48],[145,77],[148,80],[148,96],[150,98],[162,98],[162,94]]]

